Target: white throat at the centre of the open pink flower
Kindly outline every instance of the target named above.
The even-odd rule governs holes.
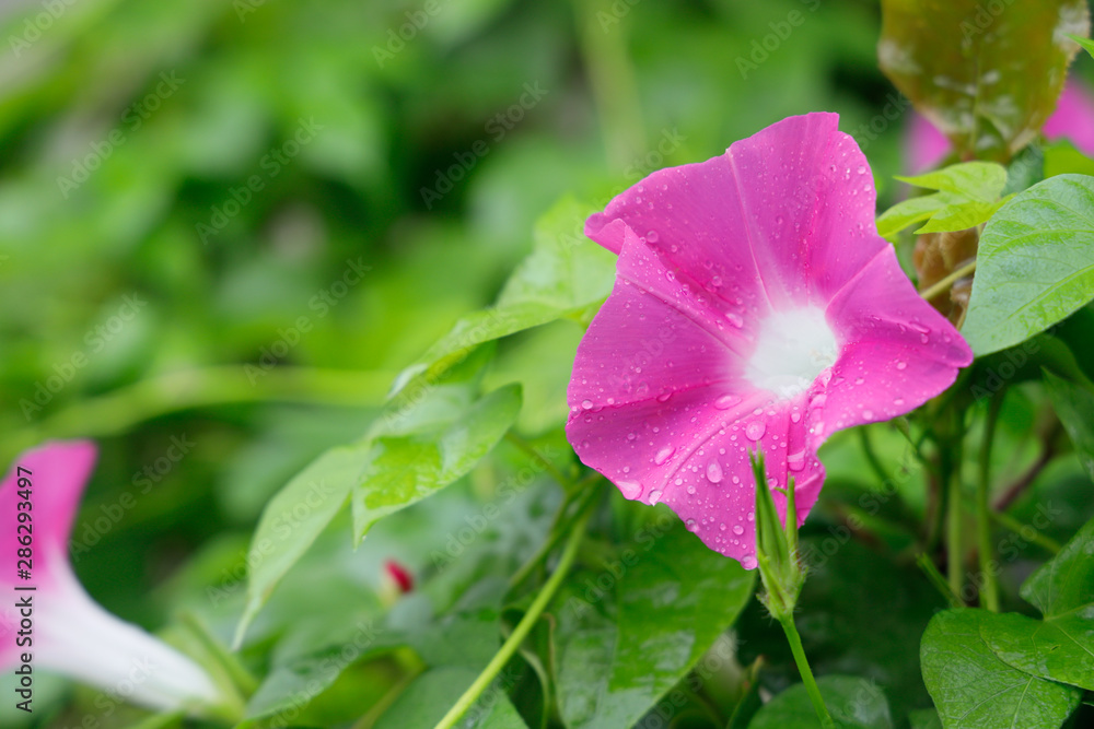
[[[756,351],[745,366],[745,377],[779,399],[792,398],[836,363],[839,344],[815,306],[775,311],[760,322]]]

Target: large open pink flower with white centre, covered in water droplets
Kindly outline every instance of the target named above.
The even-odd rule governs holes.
[[[756,566],[755,481],[804,521],[834,431],[953,384],[971,351],[877,235],[870,166],[835,114],[655,172],[592,215],[616,283],[578,348],[567,436],[622,495]],[[780,518],[785,497],[775,493]]]

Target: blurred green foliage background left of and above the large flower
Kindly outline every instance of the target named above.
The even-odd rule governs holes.
[[[865,149],[883,198],[900,172],[907,113],[885,116],[900,105],[868,0],[2,12],[4,463],[43,438],[96,438],[77,571],[151,627],[179,596],[238,580],[266,499],[492,301],[561,196],[603,203],[822,109]],[[502,348],[499,379],[549,383],[527,393],[525,428],[563,412],[580,333],[552,325],[520,338],[519,357]],[[377,584],[383,544],[347,585]]]

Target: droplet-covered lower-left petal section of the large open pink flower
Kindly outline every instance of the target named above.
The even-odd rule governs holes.
[[[711,549],[748,564],[748,449],[765,449],[776,483],[795,477],[800,519],[819,492],[807,399],[764,410],[771,393],[743,378],[735,351],[750,353],[747,329],[726,325],[719,299],[695,294],[656,249],[629,228],[624,234],[616,286],[578,348],[567,436],[625,496],[665,502]]]

